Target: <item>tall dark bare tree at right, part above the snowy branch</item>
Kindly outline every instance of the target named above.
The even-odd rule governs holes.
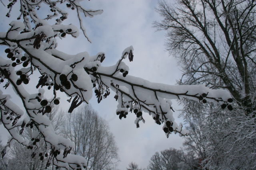
[[[159,2],[167,47],[182,63],[181,84],[227,89],[248,114],[255,110],[255,0]]]

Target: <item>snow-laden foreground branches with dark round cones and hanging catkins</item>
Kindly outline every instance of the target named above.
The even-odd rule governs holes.
[[[41,20],[36,10],[44,2],[50,8],[52,14]],[[188,135],[188,131],[174,121],[172,116],[172,99],[182,97],[196,100],[202,104],[215,102],[222,107],[232,109],[230,102],[232,97],[225,90],[212,90],[205,86],[171,86],[161,83],[152,83],[142,78],[128,75],[129,68],[124,63],[128,58],[131,62],[134,58],[133,47],[124,50],[119,61],[113,66],[104,67],[101,63],[105,59],[104,53],[89,56],[88,53],[68,55],[56,49],[57,38],[64,38],[67,34],[72,37],[78,36],[78,29],[74,25],[61,25],[68,17],[68,13],[59,7],[64,3],[58,1],[20,1],[22,10],[18,19],[24,22],[12,21],[7,32],[0,33],[0,45],[5,47],[6,56],[0,57],[0,82],[4,89],[12,88],[22,101],[22,106],[11,102],[10,95],[4,95],[0,90],[1,122],[8,130],[11,138],[8,145],[14,140],[32,149],[35,156],[37,142],[43,140],[51,149],[49,161],[54,160],[57,167],[72,168],[86,167],[86,158],[70,154],[73,143],[56,135],[51,121],[45,115],[52,110],[52,104],[60,103],[57,91],[65,93],[70,99],[69,113],[82,102],[88,103],[92,98],[93,91],[98,98],[98,103],[107,98],[110,92],[118,102],[116,114],[120,119],[126,118],[129,112],[136,115],[135,124],[145,122],[143,114],[149,113],[168,137],[170,133]],[[66,7],[76,9],[84,36],[88,39],[83,28],[80,15],[94,16],[102,10],[85,10],[78,0],[68,0]],[[12,6],[18,3],[15,0],[8,6],[10,15]],[[50,20],[58,14],[60,18],[50,25]],[[30,25],[30,23],[33,23]],[[89,40],[88,40],[89,41]],[[136,57],[136,56],[135,56]],[[36,80],[32,74],[39,73]],[[34,83],[36,82],[36,83]],[[33,85],[38,92],[30,94],[24,86]],[[53,98],[44,96],[46,87],[52,92]],[[24,139],[24,128],[36,128],[31,139]],[[2,152],[4,156],[6,148]]]

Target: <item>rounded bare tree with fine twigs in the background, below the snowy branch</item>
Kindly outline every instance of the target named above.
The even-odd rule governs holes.
[[[68,116],[66,137],[75,143],[72,152],[87,160],[86,169],[114,169],[119,161],[108,123],[86,105]]]

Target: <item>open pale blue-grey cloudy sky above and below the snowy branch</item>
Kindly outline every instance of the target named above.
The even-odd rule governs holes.
[[[59,50],[69,54],[87,51],[90,55],[104,52],[106,59],[102,65],[110,66],[120,59],[126,47],[132,45],[134,61],[131,63],[126,61],[130,67],[130,75],[151,82],[176,84],[181,72],[176,66],[174,57],[165,51],[165,33],[156,32],[152,27],[154,21],[161,20],[154,10],[157,7],[156,0],[90,0],[83,4],[86,8],[104,10],[103,14],[94,18],[84,18],[84,27],[92,43],[89,43],[82,33],[77,39],[66,36],[63,41],[59,41]],[[71,13],[70,16],[72,20],[67,20],[65,23],[72,22],[77,25],[76,16]],[[4,19],[1,19],[1,27],[4,27],[4,22]],[[108,121],[110,130],[115,136],[119,148],[120,170],[126,169],[130,162],[136,162],[139,167],[146,168],[150,157],[156,151],[170,147],[179,149],[182,146],[183,140],[179,135],[172,134],[167,139],[162,131],[162,125],[155,124],[146,114],[143,114],[146,123],[140,123],[138,129],[134,124],[136,118],[134,114],[128,114],[126,119],[120,120],[115,112],[117,102],[113,94],[102,100],[100,104],[97,103],[96,98],[90,102],[99,115]],[[173,103],[174,109],[181,108],[176,101]],[[175,111],[174,117],[177,116],[178,111]],[[182,119],[176,118],[176,121],[180,123]]]

